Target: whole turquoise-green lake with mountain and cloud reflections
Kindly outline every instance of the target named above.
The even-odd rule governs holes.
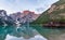
[[[65,34],[65,29],[46,28],[40,25],[26,27],[0,26],[0,40],[49,40],[52,37]]]

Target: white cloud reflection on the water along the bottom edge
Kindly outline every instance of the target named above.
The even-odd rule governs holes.
[[[6,35],[5,40],[48,40],[48,39],[42,37],[41,35],[37,35],[37,36],[29,38],[29,39],[25,39],[24,37],[17,38],[14,36]]]

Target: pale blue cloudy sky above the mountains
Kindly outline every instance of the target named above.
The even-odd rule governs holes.
[[[22,12],[24,10],[41,14],[56,1],[58,0],[0,0],[0,10],[5,10],[8,14]]]

